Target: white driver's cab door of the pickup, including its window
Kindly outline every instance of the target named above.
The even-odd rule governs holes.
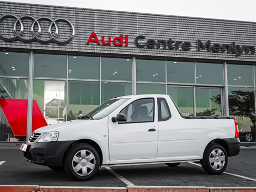
[[[156,158],[158,145],[157,102],[155,98],[138,99],[119,113],[126,122],[111,121],[109,117],[110,160]]]

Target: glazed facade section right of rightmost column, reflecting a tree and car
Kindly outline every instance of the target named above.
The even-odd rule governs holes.
[[[240,140],[254,142],[256,141],[255,65],[228,63],[227,74],[229,115],[237,118]]]

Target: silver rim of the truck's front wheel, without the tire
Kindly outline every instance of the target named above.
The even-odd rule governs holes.
[[[79,176],[90,175],[95,168],[96,160],[89,150],[80,150],[72,159],[72,168]]]

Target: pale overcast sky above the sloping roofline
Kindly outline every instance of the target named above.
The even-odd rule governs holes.
[[[0,0],[30,4],[56,5],[179,15],[189,17],[217,18],[256,22],[256,0]]]

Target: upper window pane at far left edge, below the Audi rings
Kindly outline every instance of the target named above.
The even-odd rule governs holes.
[[[29,76],[29,53],[0,52],[0,75]]]

